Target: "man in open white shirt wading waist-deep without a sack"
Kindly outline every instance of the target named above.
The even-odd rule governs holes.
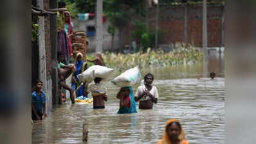
[[[156,86],[152,86],[154,76],[149,73],[144,77],[144,84],[139,86],[135,93],[135,101],[140,101],[139,109],[152,109],[153,102],[158,102],[158,89]]]

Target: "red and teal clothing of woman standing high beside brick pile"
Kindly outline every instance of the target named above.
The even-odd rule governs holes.
[[[65,11],[64,15],[65,13],[68,13],[69,15],[69,24],[64,24],[64,30],[68,38],[68,51],[69,51],[69,57],[70,57],[72,54],[72,43],[71,43],[71,37],[69,37],[68,35],[71,35],[72,29],[73,29],[73,23],[71,22],[71,14],[68,11]]]

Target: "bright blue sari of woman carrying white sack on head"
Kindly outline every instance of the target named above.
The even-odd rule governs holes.
[[[136,102],[135,102],[134,97],[133,97],[133,88],[131,86],[123,87],[123,88],[127,88],[127,89],[130,90],[130,94],[129,94],[130,108],[128,108],[127,106],[125,106],[124,108],[120,108],[118,113],[119,114],[122,114],[122,113],[137,113]]]

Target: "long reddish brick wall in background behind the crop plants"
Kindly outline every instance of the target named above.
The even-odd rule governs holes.
[[[208,5],[207,8],[207,31],[208,47],[221,47],[221,31],[223,5]],[[187,36],[188,44],[194,44],[196,47],[202,47],[202,29],[203,29],[203,6],[188,5],[187,10]],[[151,8],[149,12],[149,28],[155,28],[156,8]],[[160,44],[175,44],[185,41],[184,27],[184,7],[183,6],[160,6],[159,27],[161,31],[167,31],[160,41]],[[131,31],[133,26],[125,28],[124,44],[131,44]]]

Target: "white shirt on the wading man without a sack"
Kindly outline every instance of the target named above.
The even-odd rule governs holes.
[[[135,97],[138,97],[141,93],[144,92],[144,90],[147,90],[145,85],[139,86],[137,91],[136,91],[136,93],[135,93]],[[149,93],[151,93],[151,95],[153,95],[154,98],[158,98],[158,88],[156,88],[156,86],[152,86],[152,88],[149,91]],[[151,97],[144,96],[144,97],[142,97],[142,99],[140,99],[140,101],[150,100],[150,99],[151,99]]]

